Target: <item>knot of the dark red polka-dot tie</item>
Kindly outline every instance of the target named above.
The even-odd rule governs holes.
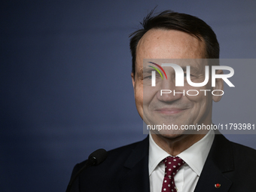
[[[166,177],[174,177],[178,169],[184,164],[184,160],[181,160],[180,157],[166,157],[162,163],[166,165]]]

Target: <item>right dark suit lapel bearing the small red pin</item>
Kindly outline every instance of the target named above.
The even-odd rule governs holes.
[[[220,134],[215,135],[212,148],[194,192],[227,192],[232,185],[224,172],[233,171],[233,151],[230,142]],[[221,187],[215,187],[221,184]]]

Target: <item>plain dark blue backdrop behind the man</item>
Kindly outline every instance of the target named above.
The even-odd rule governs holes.
[[[64,191],[92,151],[145,138],[128,36],[156,5],[209,23],[221,58],[255,58],[252,0],[1,2],[1,191]],[[250,114],[234,112],[236,102],[218,103],[214,121]],[[256,148],[254,135],[227,137]]]

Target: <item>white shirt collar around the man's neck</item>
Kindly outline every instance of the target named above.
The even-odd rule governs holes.
[[[191,145],[190,148],[187,148],[185,151],[182,151],[181,154],[178,154],[178,157],[181,157],[194,172],[200,176],[203,165],[206,162],[206,158],[209,154],[212,142],[214,139],[214,132],[212,130],[200,139],[200,141]],[[148,152],[148,171],[149,175],[156,169],[157,165],[166,157],[169,157],[166,151],[160,148],[149,134],[149,152]]]

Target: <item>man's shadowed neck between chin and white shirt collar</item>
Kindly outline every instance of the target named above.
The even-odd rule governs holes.
[[[184,134],[175,137],[168,137],[160,134],[151,133],[154,142],[172,156],[177,156],[182,151],[190,148],[191,145],[203,139],[207,132],[200,134]]]

